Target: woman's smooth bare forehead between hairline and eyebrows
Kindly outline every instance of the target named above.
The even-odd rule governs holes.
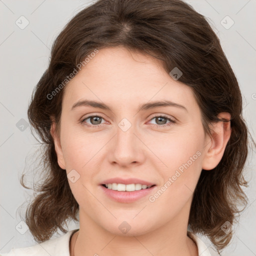
[[[71,104],[82,98],[118,106],[150,99],[195,104],[192,89],[174,80],[160,60],[124,47],[100,49],[69,81],[63,101]]]

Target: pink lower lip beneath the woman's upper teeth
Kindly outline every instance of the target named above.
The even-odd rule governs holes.
[[[108,189],[102,185],[100,185],[101,189],[103,189],[103,192],[110,197],[111,199],[117,201],[117,202],[134,202],[146,195],[148,195],[155,187],[151,186],[149,188],[135,190],[135,191],[118,191],[118,190],[112,190]]]

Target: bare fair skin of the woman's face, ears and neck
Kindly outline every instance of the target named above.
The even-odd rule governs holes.
[[[70,110],[81,99],[103,102],[111,110]],[[160,106],[137,111],[142,103],[163,99],[186,110]],[[97,114],[103,116],[98,122],[80,122]],[[176,122],[163,127],[170,121],[160,122],[155,117],[160,114]],[[122,118],[131,124],[125,132],[118,126]],[[95,123],[100,124],[86,126]],[[65,87],[60,134],[54,122],[51,127],[59,166],[67,174],[75,169],[80,175],[74,183],[68,179],[80,223],[71,237],[70,255],[198,255],[186,235],[192,193],[201,169],[210,171],[220,161],[231,132],[230,122],[211,128],[212,138],[204,133],[192,89],[174,80],[158,59],[122,46],[100,49]],[[200,156],[154,202],[148,196],[115,202],[99,186],[111,177],[136,177],[156,184],[153,195],[197,151]],[[123,221],[131,226],[125,234],[118,228]]]

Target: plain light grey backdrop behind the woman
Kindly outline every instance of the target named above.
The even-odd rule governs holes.
[[[256,1],[187,0],[207,17],[220,38],[243,95],[243,114],[255,140]],[[0,0],[0,251],[35,244],[20,222],[18,207],[32,191],[19,178],[36,163],[37,141],[30,132],[27,106],[32,90],[47,68],[51,45],[67,21],[91,1]],[[24,16],[24,17],[20,17]],[[228,16],[228,17],[227,17]],[[20,21],[22,19],[22,21]],[[26,23],[29,22],[27,25]],[[22,27],[25,26],[26,27]],[[256,255],[255,152],[246,163],[249,203],[234,226],[234,236],[222,255]],[[34,170],[36,171],[36,170]],[[33,177],[30,177],[31,181]],[[49,216],[50,217],[50,216]],[[68,229],[79,224],[69,222]],[[23,234],[22,234],[23,232]],[[62,235],[61,231],[52,238]],[[202,237],[210,244],[206,237]]]

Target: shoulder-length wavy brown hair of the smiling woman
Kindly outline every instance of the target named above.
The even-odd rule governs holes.
[[[57,163],[50,134],[51,116],[59,132],[64,86],[52,98],[47,95],[95,49],[118,45],[162,60],[167,73],[178,67],[183,73],[178,80],[192,87],[209,135],[209,123],[220,121],[218,113],[231,114],[232,131],[223,157],[213,171],[201,171],[188,220],[191,231],[207,235],[217,250],[224,248],[232,232],[226,234],[221,225],[232,224],[241,211],[239,203],[247,203],[241,186],[247,185],[242,170],[248,129],[238,82],[219,39],[204,16],[181,0],[98,0],[79,11],[55,39],[48,68],[28,108],[29,122],[44,149],[44,180],[25,215],[29,230],[37,242],[47,240],[57,228],[66,232],[63,224],[77,220],[79,209],[66,173]],[[21,184],[26,187],[23,175]]]

